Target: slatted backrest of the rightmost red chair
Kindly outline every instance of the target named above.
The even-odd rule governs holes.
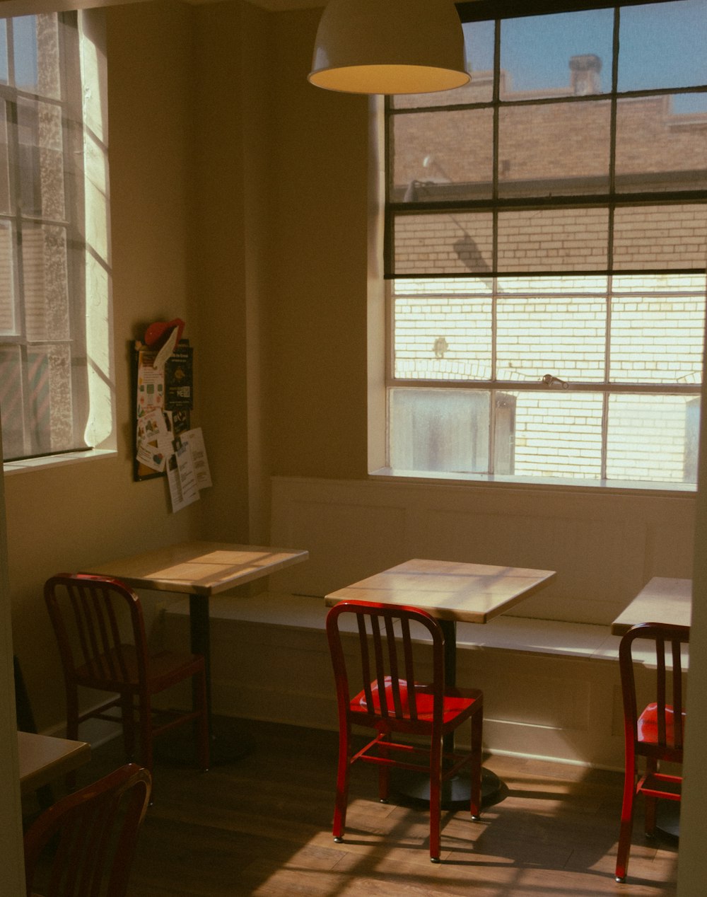
[[[677,762],[682,760],[685,736],[682,649],[689,641],[689,627],[669,623],[639,623],[621,640],[619,668],[625,736],[627,740],[633,740],[637,753]],[[639,706],[636,697],[639,663],[651,678],[651,692],[646,695],[650,713],[641,723],[639,718],[647,705],[641,701]]]

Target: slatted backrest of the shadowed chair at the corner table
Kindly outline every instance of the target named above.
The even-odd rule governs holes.
[[[59,573],[47,579],[44,597],[51,618],[64,673],[72,681],[120,684],[134,668],[125,655],[125,643],[134,644],[138,676],[147,672],[147,639],[140,599],[117,579],[85,573]],[[125,627],[131,634],[125,640]]]

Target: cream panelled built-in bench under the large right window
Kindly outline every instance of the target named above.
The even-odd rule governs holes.
[[[267,593],[212,599],[214,710],[334,729],[323,596],[393,564],[556,570],[512,613],[460,624],[458,681],[484,691],[487,751],[621,769],[609,624],[651,577],[691,577],[693,509],[693,495],[277,478],[271,542],[310,560]],[[188,640],[187,613],[168,608],[168,644]]]

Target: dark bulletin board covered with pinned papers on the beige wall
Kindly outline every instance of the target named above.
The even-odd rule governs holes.
[[[191,427],[194,350],[182,339],[163,363],[158,354],[152,346],[134,344],[135,480],[166,476],[174,441]]]

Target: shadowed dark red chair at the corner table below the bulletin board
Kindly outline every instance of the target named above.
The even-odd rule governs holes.
[[[134,714],[140,730],[141,762],[152,770],[152,738],[190,721],[197,723],[199,766],[209,766],[209,721],[204,659],[195,654],[148,649],[140,599],[117,579],[61,573],[44,587],[59,645],[66,690],[66,736],[77,739],[87,719],[122,722],[125,753],[133,758]],[[130,631],[124,638],[123,630]],[[153,722],[151,699],[186,679],[194,682],[194,710],[160,710],[166,721]],[[117,693],[93,710],[79,712],[79,686]],[[120,715],[109,714],[113,708]]]

